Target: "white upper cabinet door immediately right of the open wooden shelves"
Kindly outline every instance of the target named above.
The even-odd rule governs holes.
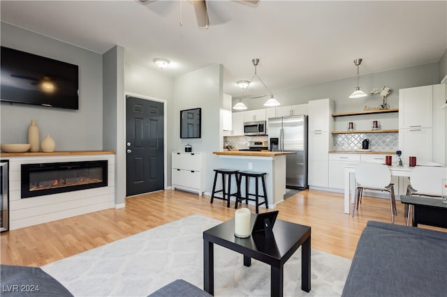
[[[399,128],[432,128],[433,86],[399,90]]]

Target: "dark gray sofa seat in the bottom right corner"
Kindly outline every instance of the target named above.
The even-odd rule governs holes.
[[[447,230],[367,222],[342,296],[447,296]]]

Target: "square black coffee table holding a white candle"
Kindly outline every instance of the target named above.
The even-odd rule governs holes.
[[[253,227],[255,214],[251,214]],[[310,291],[310,232],[311,228],[283,220],[274,223],[274,238],[256,234],[249,238],[234,235],[235,220],[228,220],[203,232],[203,284],[214,295],[214,247],[221,245],[244,255],[244,266],[251,265],[251,258],[270,265],[270,295],[283,296],[284,264],[300,248],[302,252],[301,289]]]

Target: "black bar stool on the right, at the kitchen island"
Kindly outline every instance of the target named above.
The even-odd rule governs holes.
[[[255,201],[255,206],[256,206],[256,213],[259,212],[259,206],[262,204],[265,204],[265,208],[268,208],[268,201],[267,201],[267,190],[265,190],[265,172],[239,172],[239,195],[236,197],[236,206],[235,208],[237,208],[237,204],[241,203],[242,201],[245,200],[245,204],[249,203],[250,201]],[[245,177],[245,197],[242,197],[241,193],[241,185],[242,185],[242,178]],[[250,193],[249,192],[249,181],[250,178],[253,177],[255,178],[256,181],[256,185],[255,185],[255,193]],[[261,178],[261,182],[263,184],[263,195],[259,195],[259,178]],[[254,196],[254,198],[250,198],[250,196]],[[264,198],[264,201],[259,202],[259,197]]]

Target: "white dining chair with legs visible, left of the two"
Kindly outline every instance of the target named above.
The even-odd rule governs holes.
[[[352,216],[358,209],[363,194],[363,189],[380,190],[390,193],[391,222],[394,223],[394,215],[397,215],[396,201],[394,195],[394,185],[391,182],[391,173],[388,166],[374,163],[362,163],[356,167],[356,199]]]

